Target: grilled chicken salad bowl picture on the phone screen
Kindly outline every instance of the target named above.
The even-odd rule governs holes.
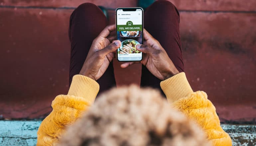
[[[140,44],[138,41],[133,39],[124,40],[118,49],[119,54],[129,54],[129,53],[141,53],[136,49],[136,45]]]

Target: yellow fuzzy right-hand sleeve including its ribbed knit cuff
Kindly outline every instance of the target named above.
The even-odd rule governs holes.
[[[193,92],[184,72],[162,81],[161,88],[171,106],[202,127],[213,146],[232,146],[231,138],[221,128],[216,109],[206,93]]]

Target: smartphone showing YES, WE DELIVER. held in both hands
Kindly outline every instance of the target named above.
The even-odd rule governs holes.
[[[116,52],[117,60],[141,61],[143,53],[136,45],[143,44],[143,9],[117,8],[115,16],[116,39],[122,42]]]

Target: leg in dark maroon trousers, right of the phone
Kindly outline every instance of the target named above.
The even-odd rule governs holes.
[[[144,28],[160,42],[176,68],[183,72],[179,21],[179,12],[176,7],[166,0],[156,1],[147,8],[144,14]],[[141,86],[161,89],[160,82],[161,80],[142,66]]]

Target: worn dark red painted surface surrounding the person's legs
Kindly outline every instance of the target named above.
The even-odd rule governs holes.
[[[180,10],[185,72],[193,90],[203,90],[222,122],[256,118],[256,1],[170,0]],[[74,7],[93,2],[109,9],[136,0],[0,0],[0,118],[38,118],[68,90],[68,21]],[[15,8],[16,7],[16,8]],[[57,7],[57,9],[55,9]],[[67,8],[64,8],[67,7]],[[120,69],[118,86],[140,80],[140,64]],[[139,82],[133,82],[139,84]]]

